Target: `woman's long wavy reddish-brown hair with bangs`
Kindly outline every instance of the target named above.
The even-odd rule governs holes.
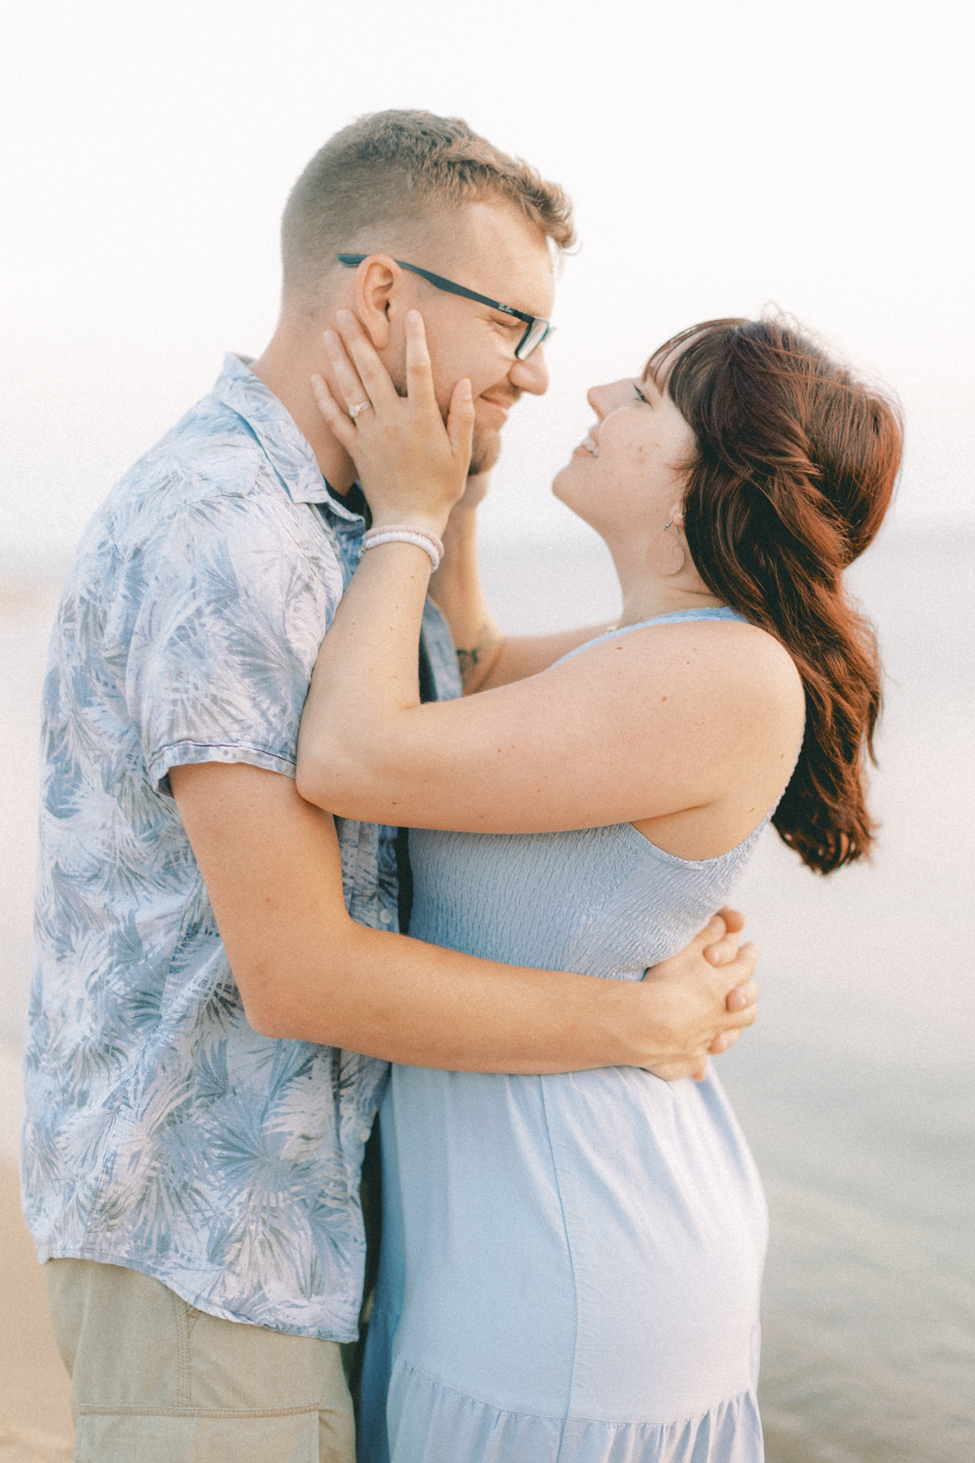
[[[684,528],[709,590],[775,635],[805,688],[805,740],[772,822],[832,873],[870,853],[865,759],[880,660],[842,573],[873,540],[900,465],[898,408],[781,320],[707,320],[646,375],[697,442]]]

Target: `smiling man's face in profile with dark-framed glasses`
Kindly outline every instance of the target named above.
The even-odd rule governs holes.
[[[512,203],[471,203],[443,222],[431,222],[424,241],[396,257],[526,315],[551,315],[555,290],[548,243]],[[516,360],[515,348],[525,334],[522,320],[446,294],[403,271],[390,297],[390,344],[383,353],[398,389],[405,382],[403,316],[409,309],[418,309],[424,317],[434,388],[444,415],[458,380],[471,377],[471,473],[487,473],[501,451],[500,432],[509,410],[522,392],[541,395],[548,388],[544,345],[526,361]]]

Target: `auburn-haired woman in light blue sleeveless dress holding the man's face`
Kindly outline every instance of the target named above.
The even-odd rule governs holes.
[[[477,696],[421,707],[420,617],[472,407],[462,382],[444,430],[418,316],[408,341],[406,399],[354,325],[354,366],[330,344],[345,402],[317,385],[374,552],[322,647],[298,787],[414,830],[411,933],[639,980],[725,900],[769,819],[823,873],[865,854],[879,667],[841,575],[890,500],[890,405],[754,320],[696,326],[595,388],[555,493],[614,556],[620,625],[548,669],[528,642]],[[456,620],[465,594],[444,598]],[[762,1457],[765,1201],[699,1075],[393,1068],[368,1463],[384,1422],[393,1463]]]

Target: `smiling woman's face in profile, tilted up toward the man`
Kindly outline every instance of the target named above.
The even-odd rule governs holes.
[[[553,492],[604,537],[623,531],[652,537],[683,500],[694,435],[649,377],[593,386],[589,405],[599,420]]]

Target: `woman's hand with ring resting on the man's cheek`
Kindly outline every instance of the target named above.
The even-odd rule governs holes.
[[[355,464],[373,527],[411,524],[440,534],[468,478],[471,382],[465,377],[453,388],[444,423],[418,310],[409,310],[405,319],[405,395],[352,312],[339,310],[336,319],[341,336],[325,332],[335,385],[313,376],[311,389],[329,430]],[[349,407],[361,408],[364,402],[370,405],[351,417]]]

